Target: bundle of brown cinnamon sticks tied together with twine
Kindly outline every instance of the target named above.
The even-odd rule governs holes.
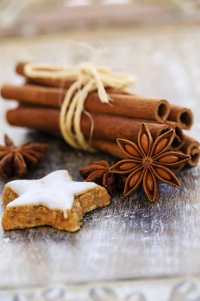
[[[16,72],[25,77],[24,66],[16,65]],[[59,112],[67,89],[74,81],[64,83],[58,79],[27,78],[21,86],[3,85],[1,96],[17,100],[16,109],[7,111],[7,122],[14,126],[39,129],[52,135],[61,136]],[[62,86],[62,88],[60,88]],[[116,144],[117,138],[137,142],[141,122],[145,122],[153,139],[173,128],[176,136],[171,150],[178,150],[191,156],[188,166],[196,166],[200,157],[199,143],[183,133],[193,123],[188,108],[170,104],[163,99],[152,99],[121,90],[107,88],[110,104],[101,103],[97,92],[91,92],[84,103],[84,109],[93,119],[92,146],[118,158],[124,158]],[[90,136],[91,120],[83,112],[81,129],[86,138]],[[178,167],[179,171],[183,166]]]

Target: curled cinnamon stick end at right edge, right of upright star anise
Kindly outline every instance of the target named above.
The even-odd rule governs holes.
[[[181,152],[191,156],[191,159],[187,162],[187,165],[194,167],[198,164],[200,158],[200,144],[198,141],[194,140],[191,137],[185,136],[184,145],[181,147]]]

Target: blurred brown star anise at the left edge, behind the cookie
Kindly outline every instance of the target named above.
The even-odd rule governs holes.
[[[7,178],[22,176],[44,159],[48,144],[29,143],[15,146],[5,135],[5,146],[0,145],[0,175]]]

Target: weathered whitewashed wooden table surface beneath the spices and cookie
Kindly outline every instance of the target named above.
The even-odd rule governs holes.
[[[200,140],[200,28],[198,25],[128,28],[67,33],[32,39],[0,41],[0,84],[20,84],[16,61],[75,64],[94,50],[108,52],[102,63],[135,74],[135,93],[165,98],[189,107],[194,125],[189,134]],[[6,124],[4,115],[15,103],[0,99],[0,143],[6,132],[20,144],[48,142],[46,160],[27,179],[67,169],[80,180],[79,169],[92,160],[112,161],[105,154],[88,154],[63,141]],[[0,288],[49,283],[198,276],[200,274],[200,166],[178,176],[179,189],[160,184],[159,199],[147,201],[142,189],[130,197],[116,194],[105,208],[85,214],[76,233],[50,227],[3,231],[0,227]],[[0,195],[7,180],[0,179]],[[4,211],[0,202],[0,217]],[[96,299],[97,300],[97,299]]]

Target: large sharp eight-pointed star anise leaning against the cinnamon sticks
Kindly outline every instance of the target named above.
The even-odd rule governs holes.
[[[129,174],[125,182],[124,196],[130,195],[141,183],[150,201],[158,198],[158,180],[180,187],[179,180],[169,168],[190,160],[190,156],[168,152],[175,137],[173,129],[159,136],[154,142],[145,123],[141,124],[137,144],[117,139],[122,152],[129,159],[124,159],[112,166],[109,171],[116,174]]]

